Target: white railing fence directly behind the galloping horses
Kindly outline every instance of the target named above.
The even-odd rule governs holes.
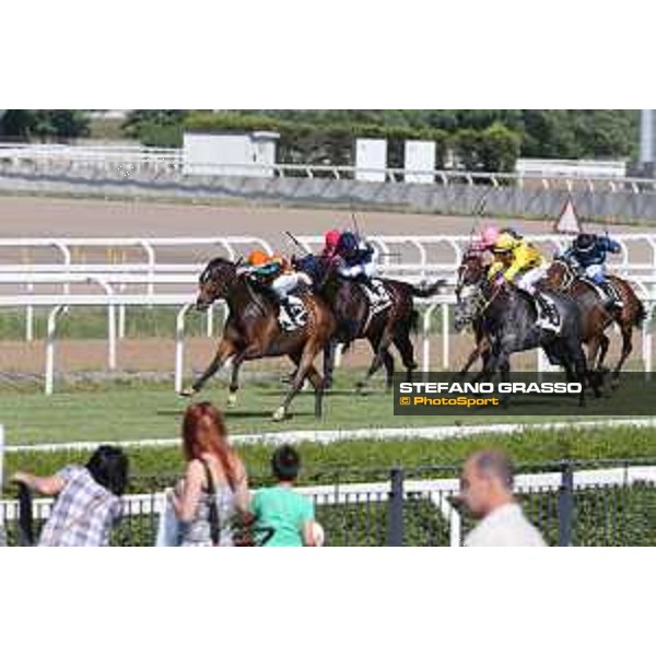
[[[651,318],[656,305],[656,234],[625,233],[616,235],[622,253],[613,258],[611,268],[629,278],[646,305]],[[531,235],[531,241],[552,253],[567,242],[559,235]],[[297,237],[306,251],[316,250],[321,237]],[[378,253],[382,276],[412,282],[445,279],[455,282],[456,270],[464,250],[470,243],[469,235],[373,235],[368,239]],[[7,251],[14,261],[0,265],[0,307],[25,309],[25,337],[34,339],[34,311],[49,308],[46,330],[45,390],[51,394],[55,379],[55,342],[57,320],[68,307],[96,306],[107,308],[107,366],[116,368],[117,348],[125,337],[126,308],[137,306],[173,306],[178,309],[176,318],[175,388],[181,388],[184,375],[185,319],[195,298],[197,280],[204,262],[179,261],[179,251],[195,247],[216,247],[230,259],[236,259],[250,248],[273,253],[273,245],[260,237],[248,235],[219,237],[164,237],[164,238],[4,238],[0,239],[0,257]],[[139,261],[77,261],[84,249],[132,249],[140,254]],[[38,255],[36,261],[19,261],[17,254],[25,249]],[[161,250],[176,261],[164,261]],[[48,258],[54,261],[47,261]],[[183,258],[184,259],[184,258]],[[54,293],[52,285],[60,290]],[[46,293],[38,293],[47,289]],[[82,289],[82,293],[73,293]],[[16,290],[19,292],[16,293]],[[23,293],[24,290],[24,293]],[[453,294],[445,293],[422,301],[421,363],[424,371],[431,368],[431,335],[436,315],[440,315],[441,366],[452,363],[450,306]],[[214,315],[208,314],[207,335],[214,333]],[[642,360],[646,371],[653,368],[652,335],[649,320],[642,331]],[[538,368],[544,366],[538,354]]]

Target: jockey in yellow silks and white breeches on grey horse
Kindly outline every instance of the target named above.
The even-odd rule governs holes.
[[[540,314],[538,325],[553,330],[557,318],[553,308],[536,290],[536,283],[547,273],[547,262],[532,244],[516,235],[517,233],[511,231],[503,231],[499,235],[492,246],[495,261],[490,267],[488,277],[496,285],[512,282],[530,294],[536,300]]]

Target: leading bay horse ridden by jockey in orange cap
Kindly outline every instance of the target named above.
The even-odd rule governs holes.
[[[293,331],[281,329],[279,305],[272,292],[239,273],[238,262],[221,257],[212,259],[201,273],[196,308],[204,311],[218,300],[224,300],[229,316],[216,353],[208,368],[185,389],[184,396],[199,391],[230,358],[233,371],[230,386],[234,405],[238,389],[238,372],[243,362],[260,358],[288,355],[296,365],[291,388],[273,413],[280,421],[288,414],[290,403],[306,378],[315,390],[315,415],[321,415],[324,380],[314,361],[336,330],[336,320],[326,302],[308,291],[298,295],[307,309],[305,325]]]

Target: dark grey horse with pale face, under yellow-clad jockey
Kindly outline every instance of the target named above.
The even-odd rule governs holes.
[[[538,316],[532,298],[507,283],[495,286],[488,279],[488,266],[481,254],[473,250],[466,253],[460,263],[456,295],[456,329],[479,319],[481,335],[489,340],[480,378],[490,378],[499,371],[502,380],[509,380],[511,355],[541,347],[551,361],[562,364],[569,379],[582,383],[582,406],[586,382],[590,382],[595,396],[599,395],[597,378],[588,374],[582,347],[581,309],[572,298],[548,292],[560,316],[560,331],[543,330],[536,326]]]

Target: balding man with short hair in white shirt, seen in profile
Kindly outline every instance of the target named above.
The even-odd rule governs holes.
[[[465,547],[547,546],[513,496],[513,465],[503,452],[470,456],[462,468],[460,491],[469,511],[480,518]]]

